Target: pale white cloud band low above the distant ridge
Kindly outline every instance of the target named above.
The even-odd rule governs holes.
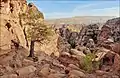
[[[84,5],[81,8],[74,9],[72,12],[54,12],[54,13],[46,13],[45,17],[47,19],[56,19],[56,18],[67,18],[74,16],[117,16],[120,17],[119,7],[111,7],[111,8],[103,8],[103,9],[90,9],[90,10],[82,10],[83,8],[87,8],[90,6],[94,6],[95,4]]]

